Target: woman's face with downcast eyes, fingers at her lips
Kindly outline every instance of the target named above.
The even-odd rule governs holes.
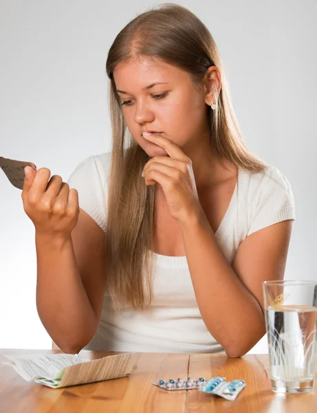
[[[118,65],[113,78],[127,127],[151,158],[167,153],[144,139],[142,131],[160,132],[185,152],[190,152],[197,136],[208,133],[204,94],[199,94],[184,70],[140,58]]]

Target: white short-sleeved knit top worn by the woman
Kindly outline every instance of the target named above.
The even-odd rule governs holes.
[[[79,206],[105,231],[111,152],[80,162],[70,176]],[[284,220],[294,220],[294,198],[287,179],[275,167],[260,173],[239,170],[237,185],[215,237],[232,265],[248,235]],[[186,256],[156,254],[153,301],[144,311],[114,312],[105,293],[96,335],[87,350],[132,352],[224,352],[200,315]],[[94,274],[91,274],[94,277]]]

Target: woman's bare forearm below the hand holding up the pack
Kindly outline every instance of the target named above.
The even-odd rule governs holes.
[[[36,233],[36,255],[39,317],[61,350],[77,353],[94,336],[98,320],[80,278],[72,238]]]

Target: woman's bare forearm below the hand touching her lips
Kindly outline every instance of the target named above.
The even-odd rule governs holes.
[[[228,356],[239,357],[265,334],[261,306],[228,264],[204,213],[180,227],[201,317]]]

